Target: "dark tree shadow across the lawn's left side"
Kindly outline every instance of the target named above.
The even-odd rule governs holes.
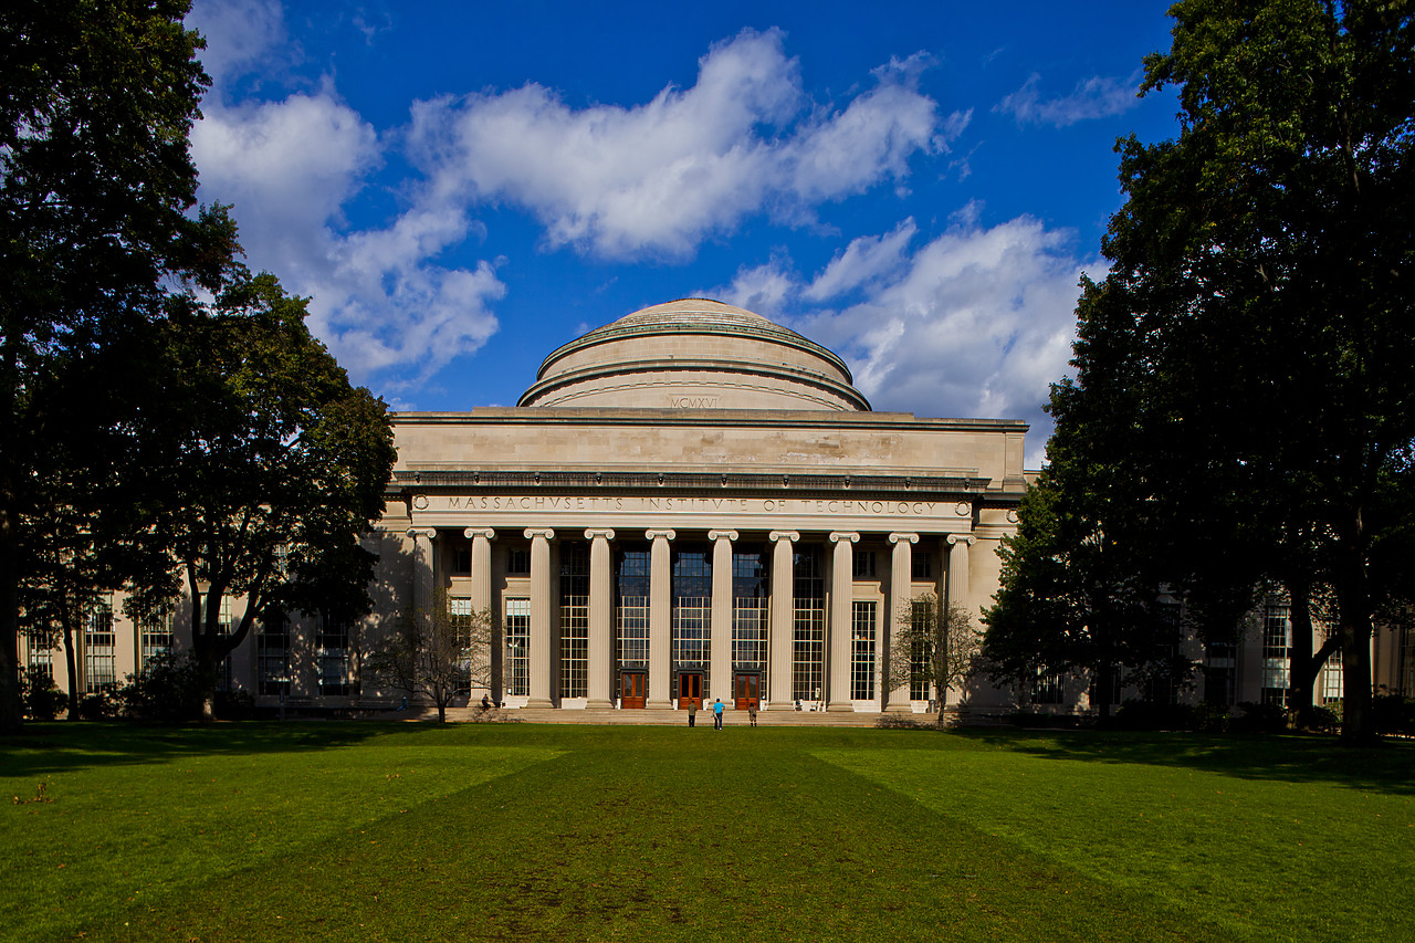
[[[31,724],[23,733],[0,736],[0,776],[37,776],[67,770],[166,763],[187,756],[239,756],[316,752],[351,746],[378,736],[417,735],[436,724],[262,722],[149,726],[127,722]]]

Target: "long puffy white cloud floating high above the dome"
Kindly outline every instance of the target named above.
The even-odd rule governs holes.
[[[937,105],[916,65],[876,72],[843,110],[812,110],[781,33],[744,30],[699,61],[689,89],[634,108],[572,109],[552,91],[443,98],[415,108],[410,140],[447,197],[529,210],[552,246],[606,258],[685,258],[744,217],[811,218],[811,207],[903,178],[934,152]]]

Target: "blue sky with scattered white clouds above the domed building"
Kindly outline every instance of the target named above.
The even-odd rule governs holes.
[[[198,0],[201,198],[398,409],[514,405],[685,296],[879,411],[1032,423],[1104,275],[1118,136],[1174,136],[1166,4]]]

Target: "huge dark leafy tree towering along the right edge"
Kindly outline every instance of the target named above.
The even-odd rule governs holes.
[[[1213,598],[1264,575],[1330,585],[1343,735],[1361,739],[1373,616],[1399,589],[1378,582],[1387,537],[1415,500],[1415,17],[1384,0],[1170,14],[1143,91],[1179,89],[1180,133],[1118,146],[1126,204],[1078,306],[1058,436],[1105,443],[1104,480],[1166,525],[1136,552]],[[1121,387],[1126,422],[1091,428]]]

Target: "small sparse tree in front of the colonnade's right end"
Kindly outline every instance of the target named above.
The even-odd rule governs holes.
[[[938,691],[940,729],[948,707],[948,688],[962,684],[976,665],[981,633],[968,610],[948,605],[932,593],[906,603],[900,612],[899,637],[890,650],[887,687],[927,681]]]

